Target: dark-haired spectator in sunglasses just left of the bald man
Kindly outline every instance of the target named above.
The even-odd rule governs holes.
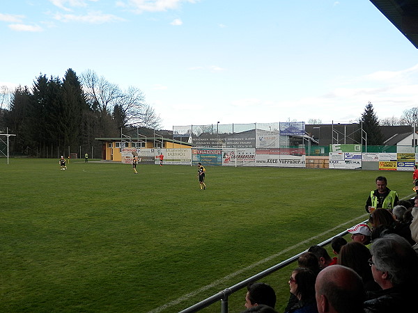
[[[315,300],[316,275],[309,268],[298,267],[292,272],[289,280],[291,293],[296,296],[297,303],[287,313],[317,313]]]

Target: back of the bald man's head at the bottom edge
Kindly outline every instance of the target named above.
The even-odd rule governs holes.
[[[316,278],[315,291],[319,313],[363,312],[362,278],[351,268],[335,265],[323,269]]]

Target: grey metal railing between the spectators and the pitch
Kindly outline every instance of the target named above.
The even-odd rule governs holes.
[[[368,220],[364,220],[362,223],[367,223]],[[345,230],[343,232],[340,232],[339,234],[336,234],[332,236],[330,239],[327,239],[321,243],[318,243],[318,246],[327,246],[331,243],[332,239],[335,236],[345,236],[348,234],[348,232]],[[212,305],[216,303],[217,301],[221,301],[221,313],[228,313],[228,298],[231,296],[231,294],[240,291],[243,288],[246,288],[248,284],[251,282],[256,282],[257,280],[261,280],[261,278],[265,278],[266,276],[274,273],[275,271],[278,271],[281,268],[284,268],[288,266],[289,264],[292,264],[293,262],[297,261],[297,259],[302,255],[302,253],[307,252],[307,250],[304,250],[297,255],[294,255],[293,257],[290,257],[286,259],[285,261],[276,264],[270,268],[267,268],[266,270],[251,276],[250,278],[247,278],[246,280],[242,280],[242,282],[238,282],[238,284],[234,284],[231,287],[228,287],[222,291],[219,291],[217,294],[214,294],[213,296],[210,296],[209,298],[206,298],[204,300],[201,300],[199,303],[196,303],[195,305],[192,305],[191,307],[187,307],[187,309],[180,311],[179,313],[192,313],[192,312],[198,312],[200,310],[203,310],[205,307],[208,307],[209,305]]]

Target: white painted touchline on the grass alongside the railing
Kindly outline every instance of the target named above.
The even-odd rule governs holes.
[[[364,215],[366,215],[366,213],[363,214],[362,216],[364,217]],[[330,230],[327,230],[326,232],[323,232],[323,233],[318,234],[316,236],[313,236],[313,237],[311,237],[311,238],[309,238],[307,240],[301,241],[300,243],[297,243],[294,246],[291,246],[289,248],[286,248],[284,250],[281,250],[280,252],[276,253],[275,255],[270,255],[270,257],[266,257],[265,259],[262,259],[261,261],[258,261],[258,262],[254,263],[254,264],[251,264],[251,265],[249,265],[249,266],[247,266],[245,268],[241,268],[240,270],[238,270],[238,271],[236,271],[234,273],[231,273],[229,275],[226,275],[224,278],[220,278],[219,280],[215,280],[215,282],[212,282],[211,284],[207,284],[206,286],[203,286],[203,287],[201,287],[201,288],[199,288],[199,289],[197,289],[195,291],[192,291],[189,294],[185,294],[184,296],[181,296],[180,298],[177,298],[176,300],[172,300],[169,303],[166,303],[166,304],[164,304],[164,305],[162,305],[160,307],[157,307],[156,309],[151,310],[148,313],[162,312],[163,310],[166,310],[167,308],[172,307],[173,305],[178,305],[179,303],[182,303],[185,300],[189,300],[189,298],[192,298],[192,297],[200,294],[203,291],[206,291],[206,290],[208,290],[208,289],[210,289],[212,287],[216,287],[218,284],[222,284],[222,283],[230,280],[231,278],[234,278],[235,276],[240,275],[240,273],[244,273],[245,271],[249,271],[251,268],[254,268],[254,267],[256,267],[258,265],[261,265],[261,264],[263,264],[265,262],[268,262],[268,261],[270,261],[272,259],[275,259],[276,257],[279,257],[280,255],[284,254],[285,252],[288,252],[288,251],[293,250],[295,248],[298,248],[300,246],[304,246],[305,244],[309,243],[310,241],[312,241],[314,239],[317,239],[319,237],[322,237],[322,236],[324,236],[324,235],[326,235],[326,234],[328,234],[330,232],[333,232],[334,230],[337,230],[337,229],[343,227],[344,225],[347,225],[347,224],[350,224],[351,225],[351,223],[353,223],[355,220],[359,220],[359,218],[361,218],[362,216],[358,216],[357,218],[353,218],[352,220],[349,220],[346,223],[343,223],[343,224],[338,225],[338,226],[336,226],[334,228],[331,228]]]

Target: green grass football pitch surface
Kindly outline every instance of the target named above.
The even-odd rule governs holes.
[[[221,280],[161,310],[178,312],[366,219],[378,175],[412,195],[412,172],[207,166],[200,191],[196,167],[67,166],[0,159],[1,312],[149,312]],[[279,311],[294,265],[263,280]]]

